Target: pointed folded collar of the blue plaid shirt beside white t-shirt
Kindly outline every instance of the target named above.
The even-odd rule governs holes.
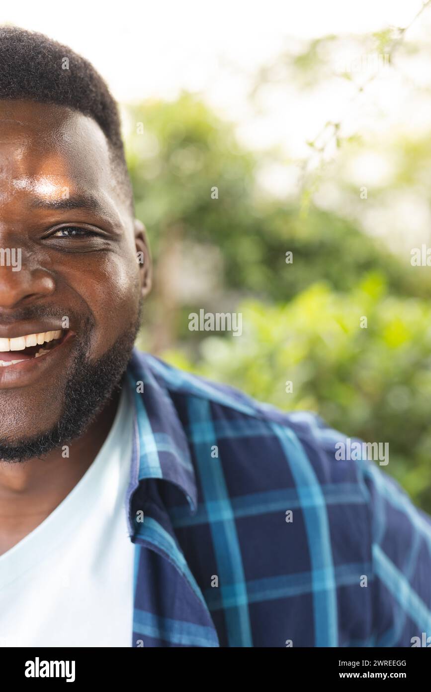
[[[195,512],[198,489],[189,444],[165,383],[151,370],[151,358],[134,349],[127,369],[126,381],[134,408],[131,480],[126,495],[128,516],[132,495],[146,478],[159,478],[178,486]],[[130,518],[128,521],[132,535]]]

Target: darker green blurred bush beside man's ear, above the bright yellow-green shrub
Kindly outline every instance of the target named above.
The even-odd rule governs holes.
[[[303,215],[299,204],[260,199],[256,156],[193,95],[143,104],[131,120],[144,122],[144,134],[128,138],[127,156],[137,217],[156,262],[181,228],[182,239],[220,248],[225,288],[262,298],[288,300],[318,279],[349,291],[371,269],[394,293],[430,295],[428,273],[401,264],[349,219],[316,208]],[[215,185],[218,199],[211,198]],[[289,272],[286,251],[295,257]]]

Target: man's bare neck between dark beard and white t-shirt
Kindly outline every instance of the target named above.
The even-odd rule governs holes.
[[[81,480],[99,453],[117,412],[119,393],[84,434],[43,459],[0,462],[0,554],[41,524]]]

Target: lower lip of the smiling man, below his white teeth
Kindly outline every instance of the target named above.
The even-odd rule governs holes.
[[[27,358],[15,365],[0,366],[0,389],[13,389],[26,387],[35,380],[46,376],[50,368],[59,365],[66,357],[66,349],[70,349],[75,332],[68,331],[64,339],[53,349],[39,356],[39,358]],[[19,351],[17,351],[19,358]]]

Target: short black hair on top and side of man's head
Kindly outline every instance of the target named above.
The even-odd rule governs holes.
[[[93,118],[108,140],[111,163],[134,213],[117,103],[88,60],[44,34],[0,26],[0,99],[57,104]]]

